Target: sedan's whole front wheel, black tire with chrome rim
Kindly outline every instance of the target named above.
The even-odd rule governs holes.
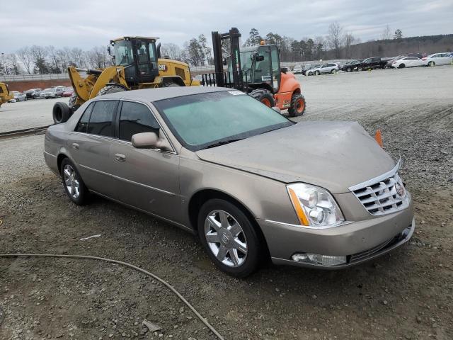
[[[221,199],[208,200],[198,213],[202,245],[215,266],[230,276],[244,278],[258,268],[263,246],[252,223],[243,210]]]

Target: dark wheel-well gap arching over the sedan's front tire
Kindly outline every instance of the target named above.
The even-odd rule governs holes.
[[[251,222],[251,225],[253,225],[253,228],[255,229],[256,233],[258,234],[258,238],[259,238],[260,242],[263,244],[263,248],[265,249],[266,254],[268,254],[268,256],[270,256],[268,244],[264,237],[263,231],[261,230],[260,226],[258,225],[258,222],[256,222],[256,218],[253,216],[253,213],[251,212],[251,210],[248,209],[247,206],[244,203],[242,203],[239,199],[231,196],[228,193],[225,193],[224,191],[220,191],[218,189],[204,188],[204,189],[201,189],[200,191],[197,191],[196,193],[194,193],[193,196],[190,198],[189,203],[188,203],[188,216],[189,216],[189,220],[190,220],[190,225],[193,228],[194,232],[197,234],[198,212],[200,212],[200,208],[208,200],[212,200],[214,198],[226,200],[227,202],[236,205],[237,208],[242,210],[242,212],[248,217],[248,219]]]

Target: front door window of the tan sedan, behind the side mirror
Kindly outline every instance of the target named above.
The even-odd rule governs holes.
[[[130,142],[132,135],[141,132],[156,132],[159,135],[159,123],[147,106],[124,101],[120,115],[120,140]]]

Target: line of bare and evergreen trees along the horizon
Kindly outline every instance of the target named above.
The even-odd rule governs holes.
[[[252,28],[243,35],[243,47],[259,45],[264,40],[275,44],[280,50],[282,62],[304,62],[308,60],[363,59],[366,57],[394,57],[408,52],[432,53],[453,50],[453,35],[430,35],[424,37],[403,38],[403,32],[394,33],[387,25],[376,40],[362,42],[352,32],[345,30],[338,22],[328,26],[327,35],[297,40],[286,35],[269,32],[260,35]],[[224,56],[229,55],[229,41],[222,41]],[[184,42],[180,47],[172,42],[161,45],[162,57],[187,62],[199,67],[212,65],[212,49],[205,35],[200,34]],[[81,68],[99,68],[111,64],[105,47],[93,47],[82,50],[79,47],[54,46],[23,47],[20,50],[0,56],[0,74],[47,74],[64,73],[70,65]]]

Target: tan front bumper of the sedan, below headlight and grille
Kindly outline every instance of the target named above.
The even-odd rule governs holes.
[[[268,243],[273,263],[338,269],[353,266],[406,243],[415,229],[412,203],[405,210],[338,227],[311,229],[268,220],[258,220]],[[346,256],[338,266],[292,261],[296,253]]]

